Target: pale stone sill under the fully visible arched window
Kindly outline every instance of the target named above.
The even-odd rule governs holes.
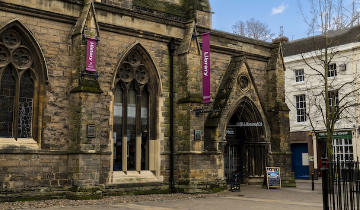
[[[113,171],[110,184],[131,184],[162,182],[163,177],[156,177],[152,171]]]

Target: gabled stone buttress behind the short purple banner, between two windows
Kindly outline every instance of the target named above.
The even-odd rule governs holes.
[[[72,89],[70,103],[72,118],[70,119],[71,145],[70,155],[73,173],[73,184],[78,187],[94,187],[100,184],[103,176],[104,159],[110,164],[110,154],[101,149],[104,144],[100,137],[99,110],[103,107],[104,98],[97,81],[97,74],[86,71],[87,38],[99,40],[99,28],[96,22],[94,4],[91,0],[84,1],[80,17],[72,31]],[[103,126],[104,127],[104,126]],[[105,143],[106,144],[106,143]],[[102,178],[101,180],[106,180]]]

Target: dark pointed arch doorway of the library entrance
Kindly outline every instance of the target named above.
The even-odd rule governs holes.
[[[244,99],[226,126],[224,171],[227,183],[237,171],[242,183],[262,182],[267,142],[261,114],[255,104]]]

